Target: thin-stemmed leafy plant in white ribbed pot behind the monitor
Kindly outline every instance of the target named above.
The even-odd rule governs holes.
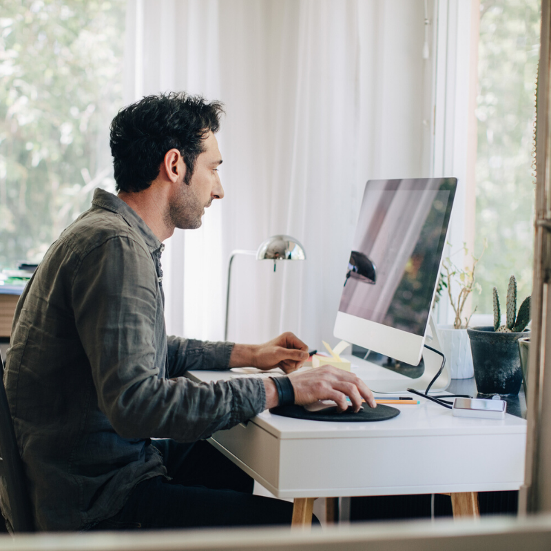
[[[484,244],[484,249],[486,249],[486,244]],[[462,251],[464,257],[466,257],[468,250],[465,245]],[[455,318],[453,325],[438,326],[438,337],[442,353],[444,353],[446,362],[450,366],[452,379],[470,379],[473,375],[472,357],[466,328],[470,317],[476,311],[476,307],[469,316],[464,315],[464,310],[470,293],[472,291],[480,293],[481,291],[480,285],[475,282],[475,269],[481,256],[482,254],[479,258],[472,256],[471,267],[463,269],[457,267],[449,257],[442,262],[442,273],[437,287],[437,300],[439,300],[442,291],[446,289]],[[455,289],[459,289],[457,295],[454,293]]]

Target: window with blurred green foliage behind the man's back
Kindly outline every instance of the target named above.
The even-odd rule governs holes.
[[[3,0],[0,267],[37,262],[114,189],[109,123],[123,100],[125,1]]]

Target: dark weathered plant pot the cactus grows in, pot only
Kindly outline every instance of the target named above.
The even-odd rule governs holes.
[[[518,340],[530,336],[521,333],[497,333],[493,327],[467,329],[480,394],[516,396],[522,384]]]

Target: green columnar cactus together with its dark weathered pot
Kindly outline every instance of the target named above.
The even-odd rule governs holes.
[[[467,329],[480,394],[517,395],[522,383],[518,340],[528,337],[530,297],[523,300],[517,313],[517,280],[511,275],[507,290],[506,322],[501,325],[497,289],[493,289],[494,324]]]

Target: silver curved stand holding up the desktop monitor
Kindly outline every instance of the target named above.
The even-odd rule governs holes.
[[[425,342],[431,348],[441,351],[436,324],[432,314],[430,315],[429,326],[431,335],[426,336]],[[426,391],[426,387],[438,373],[438,370],[442,364],[442,357],[427,348],[423,348],[423,360],[425,364],[423,375],[421,375],[421,377],[417,377],[417,379],[412,379],[411,377],[406,377],[405,375],[400,375],[399,373],[390,372],[388,369],[381,366],[376,366],[368,361],[358,361],[357,357],[354,357],[352,362],[353,364],[358,365],[356,375],[362,378],[373,392],[385,394],[406,392],[407,388],[414,388],[416,391],[422,392]],[[388,375],[391,375],[392,378]],[[450,381],[450,368],[446,363],[442,373],[434,382],[433,386],[430,387],[430,392],[445,391],[450,385]]]

